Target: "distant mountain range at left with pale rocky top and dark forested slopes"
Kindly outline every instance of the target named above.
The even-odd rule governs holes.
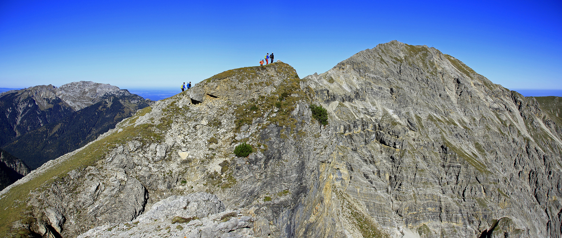
[[[0,94],[0,145],[33,170],[83,147],[153,103],[92,81],[9,90]]]

